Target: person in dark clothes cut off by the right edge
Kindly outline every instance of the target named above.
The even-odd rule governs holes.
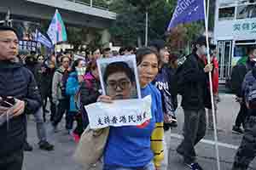
[[[241,91],[247,106],[245,133],[241,140],[232,170],[247,170],[256,156],[256,67],[249,71],[242,83]]]

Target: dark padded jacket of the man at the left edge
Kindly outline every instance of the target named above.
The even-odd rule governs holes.
[[[25,113],[0,126],[0,159],[21,150],[26,139],[26,113],[38,110],[41,97],[32,72],[18,63],[0,61],[0,96],[13,96],[26,102]]]

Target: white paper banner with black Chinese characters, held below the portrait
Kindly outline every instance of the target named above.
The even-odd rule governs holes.
[[[92,129],[137,126],[151,119],[151,96],[143,99],[114,100],[112,104],[97,102],[84,106]]]

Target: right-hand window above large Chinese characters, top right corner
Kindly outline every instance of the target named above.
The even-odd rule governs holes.
[[[256,18],[256,4],[237,7],[236,19]]]

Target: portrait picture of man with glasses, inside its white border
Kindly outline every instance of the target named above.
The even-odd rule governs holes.
[[[138,99],[135,66],[132,61],[113,58],[112,62],[103,63],[100,68],[105,94],[112,99]]]

